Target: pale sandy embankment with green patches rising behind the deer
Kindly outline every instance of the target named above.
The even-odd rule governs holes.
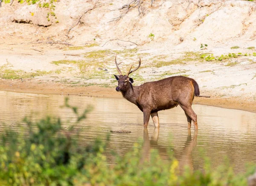
[[[196,103],[256,111],[255,2],[130,2],[2,3],[0,89],[121,97],[114,56],[123,71],[141,57],[135,85],[189,76],[211,96]]]

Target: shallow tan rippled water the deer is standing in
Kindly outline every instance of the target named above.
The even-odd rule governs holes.
[[[144,140],[143,153],[148,156],[149,149],[158,149],[162,158],[167,158],[170,135],[175,157],[181,165],[201,169],[203,159],[200,147],[204,148],[213,166],[218,166],[227,156],[236,172],[244,172],[245,163],[256,163],[256,114],[241,110],[193,105],[198,115],[198,133],[187,130],[186,116],[178,106],[159,112],[160,130],[154,130],[150,121],[148,130],[143,129],[143,113],[125,99],[99,99],[87,96],[69,96],[69,103],[78,106],[80,111],[88,104],[94,109],[86,120],[79,124],[79,141],[90,143],[95,137],[106,139],[110,130],[128,130],[131,133],[111,134],[108,151],[114,149],[125,154],[139,139]],[[36,95],[0,91],[0,124],[19,130],[18,124],[24,116],[32,120],[45,115],[61,117],[74,122],[70,109],[60,108],[64,104],[61,95]],[[69,127],[65,124],[64,127]],[[1,128],[1,127],[0,127]],[[111,161],[111,157],[108,157]]]

